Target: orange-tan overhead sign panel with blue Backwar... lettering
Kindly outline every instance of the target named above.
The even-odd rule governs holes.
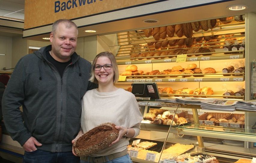
[[[24,29],[75,19],[157,0],[26,0]]]

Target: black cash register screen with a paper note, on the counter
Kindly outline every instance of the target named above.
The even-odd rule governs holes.
[[[139,82],[139,83],[132,83],[132,86],[133,86],[132,93],[136,97],[150,97],[150,100],[160,99],[157,83]]]

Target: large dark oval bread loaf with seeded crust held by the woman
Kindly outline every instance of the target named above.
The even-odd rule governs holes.
[[[114,123],[102,123],[79,137],[73,144],[78,156],[86,156],[109,146],[119,134]]]

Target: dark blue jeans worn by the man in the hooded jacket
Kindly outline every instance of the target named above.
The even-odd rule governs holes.
[[[48,152],[35,150],[26,152],[23,163],[79,163],[80,157],[73,155],[72,152]]]

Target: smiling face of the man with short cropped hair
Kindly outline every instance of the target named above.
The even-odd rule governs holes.
[[[72,26],[66,28],[64,23],[59,23],[56,31],[50,34],[52,43],[52,57],[59,62],[68,62],[77,46],[78,31]]]

